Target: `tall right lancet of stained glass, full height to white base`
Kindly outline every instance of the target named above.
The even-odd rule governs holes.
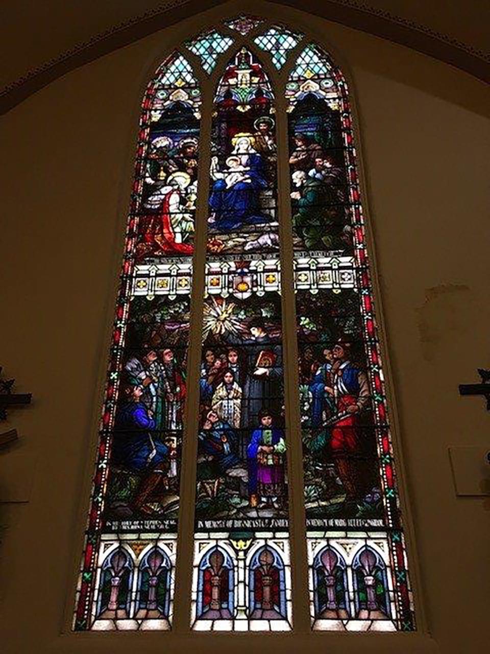
[[[347,85],[308,45],[286,97],[312,627],[413,630]]]

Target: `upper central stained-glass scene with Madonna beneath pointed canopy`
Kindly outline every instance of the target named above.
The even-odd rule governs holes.
[[[278,249],[272,92],[242,48],[218,86],[212,122],[208,252]]]

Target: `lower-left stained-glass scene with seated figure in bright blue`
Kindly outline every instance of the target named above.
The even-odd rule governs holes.
[[[131,301],[106,513],[176,521],[189,296]]]

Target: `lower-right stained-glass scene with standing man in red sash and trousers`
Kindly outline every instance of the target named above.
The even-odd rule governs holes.
[[[353,290],[297,293],[308,519],[383,515],[358,304]]]

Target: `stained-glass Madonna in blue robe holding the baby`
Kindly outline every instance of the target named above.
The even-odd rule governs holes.
[[[267,188],[263,160],[252,147],[250,136],[238,138],[226,163],[226,171],[218,171],[217,158],[211,163],[210,173],[215,181],[209,196],[210,229],[231,232],[247,224],[268,222],[269,217],[259,211],[259,192]]]

